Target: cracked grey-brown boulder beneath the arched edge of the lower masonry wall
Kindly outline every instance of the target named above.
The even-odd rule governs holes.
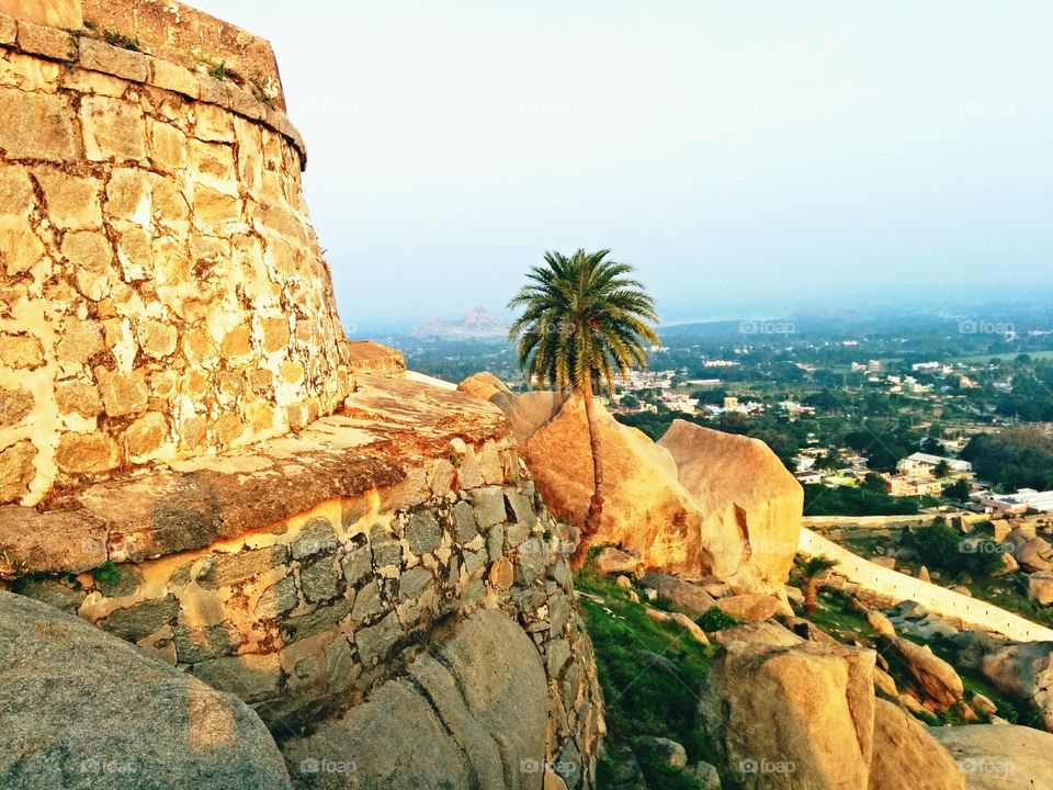
[[[302,788],[532,788],[543,765],[545,675],[526,633],[486,610],[342,719],[283,745]],[[353,770],[328,770],[340,764]]]

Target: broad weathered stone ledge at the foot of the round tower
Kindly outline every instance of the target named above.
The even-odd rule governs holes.
[[[503,414],[461,393],[363,375],[342,413],[298,436],[140,469],[38,508],[0,507],[0,564],[80,573],[267,530],[318,505],[406,505],[430,496],[428,470],[458,448],[500,440]],[[463,452],[463,450],[461,450]]]

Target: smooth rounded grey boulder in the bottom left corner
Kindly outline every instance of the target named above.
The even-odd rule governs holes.
[[[116,636],[0,590],[0,787],[290,787],[259,716]]]

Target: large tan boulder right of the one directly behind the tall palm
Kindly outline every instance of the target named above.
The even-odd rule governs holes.
[[[676,420],[659,440],[706,514],[718,576],[748,566],[783,580],[797,550],[804,489],[762,441]]]

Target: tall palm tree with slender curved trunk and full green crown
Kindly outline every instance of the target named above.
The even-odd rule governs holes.
[[[546,252],[545,266],[531,267],[528,284],[508,303],[520,311],[509,329],[520,368],[531,384],[548,384],[585,400],[592,456],[592,497],[582,533],[599,528],[603,512],[600,435],[593,414],[597,382],[614,392],[614,376],[647,364],[647,346],[659,342],[655,303],[627,263],[608,260],[610,250],[579,249],[567,258]],[[579,544],[579,554],[585,551]]]

